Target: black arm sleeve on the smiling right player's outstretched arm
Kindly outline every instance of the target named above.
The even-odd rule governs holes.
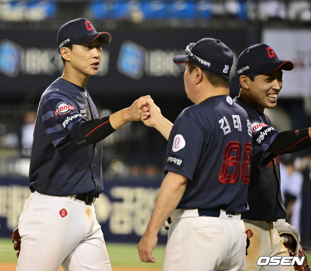
[[[284,131],[276,135],[267,151],[275,154],[301,151],[311,146],[309,128],[296,131]]]

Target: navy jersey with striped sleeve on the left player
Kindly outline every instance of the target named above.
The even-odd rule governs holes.
[[[98,118],[86,89],[56,79],[42,94],[30,159],[31,192],[50,196],[103,191],[102,143],[69,140],[74,124]]]

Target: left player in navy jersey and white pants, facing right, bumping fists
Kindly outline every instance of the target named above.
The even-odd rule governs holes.
[[[101,140],[131,120],[140,120],[150,96],[99,118],[86,90],[111,36],[86,19],[58,31],[62,77],[42,94],[34,130],[29,187],[18,224],[17,271],[111,270],[92,202],[103,191]]]

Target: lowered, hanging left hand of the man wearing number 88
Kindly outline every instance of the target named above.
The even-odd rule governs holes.
[[[139,258],[142,262],[145,263],[155,263],[156,258],[152,257],[152,251],[155,249],[156,244],[158,242],[158,236],[152,236],[148,234],[144,234],[142,239],[137,246]]]

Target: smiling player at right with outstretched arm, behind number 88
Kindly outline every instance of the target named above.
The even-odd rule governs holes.
[[[291,61],[280,60],[276,52],[263,43],[248,47],[237,60],[240,93],[234,101],[247,111],[253,132],[249,211],[242,215],[250,241],[245,270],[294,270],[288,265],[260,265],[258,259],[289,256],[289,253],[304,256],[298,231],[284,219],[286,210],[280,190],[278,155],[309,147],[311,128],[280,132],[264,113],[265,108],[276,106],[283,85],[282,70],[293,68]],[[296,268],[309,270],[306,260]]]

